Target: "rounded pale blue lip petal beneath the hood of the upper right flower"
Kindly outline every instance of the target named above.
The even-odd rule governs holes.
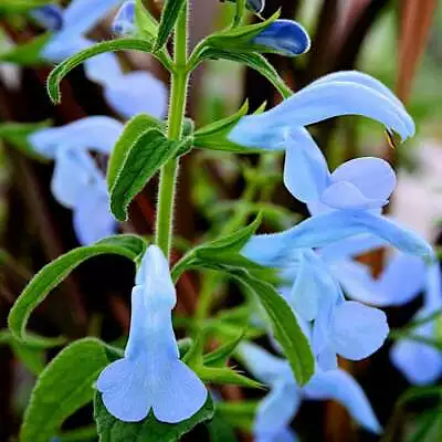
[[[349,182],[367,199],[387,201],[397,185],[391,166],[380,158],[364,157],[344,162],[332,173],[332,182]]]

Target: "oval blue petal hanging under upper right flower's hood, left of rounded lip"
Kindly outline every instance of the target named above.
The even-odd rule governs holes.
[[[304,128],[291,130],[286,141],[284,185],[299,201],[316,200],[326,189],[329,171],[324,155]]]

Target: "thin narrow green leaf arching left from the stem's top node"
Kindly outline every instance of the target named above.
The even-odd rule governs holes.
[[[48,77],[48,93],[54,104],[61,102],[60,83],[76,66],[87,59],[105,52],[116,51],[151,52],[151,43],[141,39],[118,39],[97,43],[60,63]]]

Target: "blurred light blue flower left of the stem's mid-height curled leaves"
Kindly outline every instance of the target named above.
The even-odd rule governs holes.
[[[122,130],[122,123],[95,116],[40,129],[29,137],[35,151],[55,161],[51,190],[61,204],[73,210],[73,227],[81,244],[108,236],[117,227],[104,173],[87,150],[108,155]]]

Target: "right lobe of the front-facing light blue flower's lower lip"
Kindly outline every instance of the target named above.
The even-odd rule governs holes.
[[[176,423],[191,418],[208,397],[198,376],[178,359],[165,358],[156,370],[154,382],[154,414],[161,422]]]

